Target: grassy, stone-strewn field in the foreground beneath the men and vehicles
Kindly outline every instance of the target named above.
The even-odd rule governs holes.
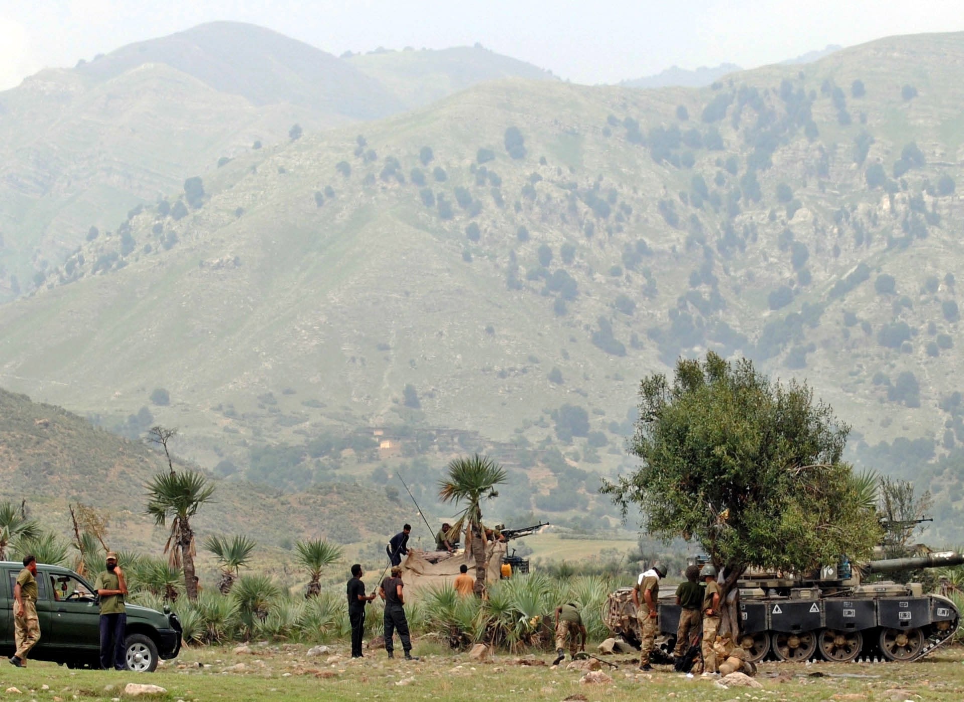
[[[344,645],[330,654],[308,656],[302,645],[252,645],[250,653],[232,648],[201,648],[183,652],[156,673],[135,675],[113,671],[74,671],[53,663],[30,662],[22,670],[5,668],[0,689],[9,699],[112,699],[127,683],[159,685],[169,700],[326,700],[408,699],[529,700],[960,700],[964,696],[964,649],[945,649],[913,663],[763,663],[757,681],[762,689],[716,686],[710,679],[686,678],[657,666],[649,674],[635,661],[621,657],[612,682],[580,684],[581,671],[549,667],[550,655],[527,656],[545,665],[521,665],[511,655],[491,662],[470,662],[438,645],[415,643],[419,662],[387,661],[384,652],[369,652],[363,661],[345,659]],[[604,668],[605,666],[603,666]],[[43,689],[46,686],[47,689]],[[583,695],[575,697],[574,695]]]

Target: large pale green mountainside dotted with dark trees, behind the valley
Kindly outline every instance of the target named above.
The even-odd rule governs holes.
[[[530,506],[598,517],[639,378],[714,349],[806,378],[951,520],[960,61],[953,34],[704,90],[506,80],[239,155],[0,308],[0,382],[147,406],[284,489],[496,443]]]

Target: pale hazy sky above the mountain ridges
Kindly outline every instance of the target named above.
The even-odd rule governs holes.
[[[964,30],[961,0],[0,0],[0,89],[201,22],[251,22],[335,54],[482,44],[580,83],[678,65],[756,67],[827,44]]]

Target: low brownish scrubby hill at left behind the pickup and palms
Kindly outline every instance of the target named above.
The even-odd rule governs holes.
[[[70,533],[67,504],[93,505],[110,514],[112,548],[161,552],[167,535],[144,514],[144,486],[151,475],[167,470],[163,456],[60,407],[3,390],[0,437],[0,500],[26,500],[32,517],[65,537]],[[175,437],[175,449],[176,444]],[[282,495],[243,481],[212,479],[214,501],[192,523],[198,532],[244,533],[269,548],[290,548],[300,538],[325,537],[345,545],[381,540],[409,516],[384,493],[348,483]],[[371,511],[360,513],[359,504]]]

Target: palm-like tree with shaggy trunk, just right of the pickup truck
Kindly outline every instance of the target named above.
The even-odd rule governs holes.
[[[190,600],[198,599],[194,570],[197,552],[191,518],[213,494],[214,486],[201,473],[193,471],[158,473],[147,484],[147,514],[158,527],[171,522],[171,535],[164,545],[164,553],[168,554],[172,567],[184,568],[184,589]]]

